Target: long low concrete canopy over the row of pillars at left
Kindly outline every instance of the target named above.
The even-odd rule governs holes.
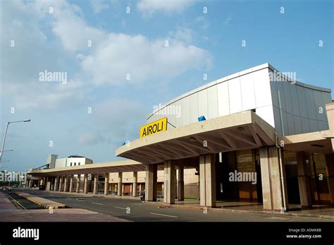
[[[59,167],[55,169],[30,169],[27,174],[35,177],[54,177],[71,174],[103,174],[113,172],[137,172],[145,171],[146,165],[132,160],[116,162],[101,162],[90,165],[80,165],[72,167]]]

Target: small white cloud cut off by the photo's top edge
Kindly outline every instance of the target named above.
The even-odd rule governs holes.
[[[139,11],[143,13],[144,16],[151,16],[152,14],[162,11],[163,13],[180,13],[185,10],[185,8],[191,6],[193,1],[190,0],[141,0],[137,4]]]

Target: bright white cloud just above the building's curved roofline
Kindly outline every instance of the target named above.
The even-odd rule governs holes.
[[[82,61],[83,71],[96,84],[119,85],[166,80],[193,68],[211,66],[206,50],[180,40],[148,40],[142,35],[109,34]],[[130,80],[126,80],[130,74]]]

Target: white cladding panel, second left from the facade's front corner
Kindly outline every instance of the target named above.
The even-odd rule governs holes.
[[[256,108],[253,74],[248,73],[240,77],[240,87],[242,95],[242,110]]]

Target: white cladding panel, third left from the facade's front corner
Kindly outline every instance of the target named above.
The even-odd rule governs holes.
[[[240,78],[228,80],[228,93],[230,95],[230,113],[242,112]]]

